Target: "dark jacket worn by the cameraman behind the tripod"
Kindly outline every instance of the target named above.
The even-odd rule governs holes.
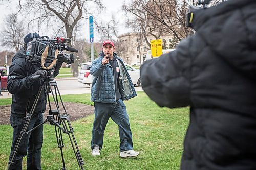
[[[13,94],[11,105],[12,113],[26,114],[27,104],[27,112],[30,112],[38,89],[42,83],[40,78],[34,82],[30,79],[37,70],[39,70],[39,68],[36,65],[26,61],[23,48],[13,57],[7,81],[7,89]],[[41,93],[34,114],[45,112],[46,100],[47,93],[46,87],[44,87],[44,91]]]

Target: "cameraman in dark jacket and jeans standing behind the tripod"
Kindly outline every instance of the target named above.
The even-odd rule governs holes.
[[[26,116],[31,111],[38,89],[44,83],[42,78],[47,76],[46,70],[42,70],[34,63],[26,61],[27,43],[34,38],[40,38],[40,36],[37,33],[30,33],[24,38],[25,45],[14,55],[9,68],[7,88],[13,94],[10,116],[11,126],[13,127],[13,139],[9,161],[11,160],[20,131],[22,131],[25,124]],[[40,75],[40,78],[35,78],[35,75]],[[46,104],[47,90],[44,87],[27,131],[43,122],[42,114],[46,110]],[[22,159],[27,155],[27,152],[27,169],[41,169],[42,130],[43,126],[39,126],[31,134],[23,136],[17,150],[17,155],[14,158],[14,163],[9,166],[9,169],[22,169]]]

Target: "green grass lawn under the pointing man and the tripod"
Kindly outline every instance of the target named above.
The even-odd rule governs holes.
[[[90,102],[90,94],[63,95],[64,101]],[[10,104],[9,99],[1,99],[0,104]],[[84,169],[179,169],[183,150],[183,139],[188,126],[189,108],[160,108],[144,92],[125,102],[133,133],[134,150],[140,155],[136,158],[119,157],[118,127],[109,120],[104,133],[104,144],[100,157],[91,156],[91,136],[94,115],[71,122]],[[82,112],[82,110],[81,110]],[[7,169],[12,140],[10,125],[0,125],[0,169]],[[78,167],[68,135],[63,135],[65,147],[63,154],[66,169]],[[42,148],[42,169],[61,169],[60,150],[57,148],[54,127],[44,125],[44,144]],[[24,158],[26,162],[26,158]],[[24,169],[26,164],[24,163]]]

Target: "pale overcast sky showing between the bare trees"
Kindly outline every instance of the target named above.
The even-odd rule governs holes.
[[[126,29],[124,29],[124,13],[121,11],[121,6],[124,2],[124,0],[101,0],[102,3],[104,4],[104,6],[106,7],[105,12],[102,12],[102,15],[99,15],[99,17],[102,17],[102,19],[104,19],[106,22],[111,20],[111,15],[112,14],[116,14],[117,15],[117,19],[120,23],[120,27],[119,27],[119,34],[123,34],[126,33]],[[5,18],[5,16],[11,12],[14,12],[16,10],[16,4],[18,1],[17,0],[12,0],[11,1],[11,5],[9,7],[7,7],[6,4],[0,4],[0,11],[1,11],[1,15],[0,15],[0,24],[3,24],[3,20]],[[127,2],[127,0],[126,0]],[[86,37],[86,39],[89,40],[89,21],[84,21],[87,23],[84,23],[84,25],[86,25],[86,27],[83,28],[84,30],[84,36]],[[94,27],[95,28],[95,27]],[[3,27],[0,26],[0,30],[2,30]],[[95,37],[95,41],[97,41],[97,32],[94,31],[94,37]]]

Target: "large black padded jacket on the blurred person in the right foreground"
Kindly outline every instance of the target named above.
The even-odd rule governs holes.
[[[181,169],[256,169],[256,1],[200,9],[193,22],[195,35],[142,65],[143,90],[190,106]]]

